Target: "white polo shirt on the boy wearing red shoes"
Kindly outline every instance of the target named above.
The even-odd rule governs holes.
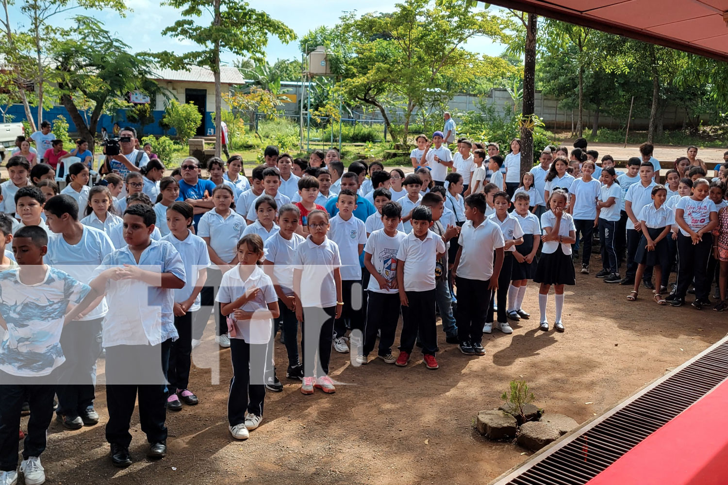
[[[435,262],[446,252],[443,239],[427,231],[424,240],[409,233],[400,244],[397,260],[404,262],[405,292],[427,292],[435,289]]]

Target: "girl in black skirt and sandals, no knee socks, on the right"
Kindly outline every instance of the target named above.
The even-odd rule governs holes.
[[[666,238],[670,233],[671,212],[664,205],[667,197],[667,189],[663,185],[655,185],[652,188],[652,204],[643,207],[637,216],[643,229],[642,238],[635,254],[635,262],[638,263],[635,288],[627,297],[630,302],[637,300],[637,292],[645,268],[654,268],[655,286],[662,281],[662,273],[670,271],[670,250]],[[667,304],[659,289],[654,294],[654,301],[657,302],[657,305]]]

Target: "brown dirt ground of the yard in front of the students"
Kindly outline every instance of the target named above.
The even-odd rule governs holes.
[[[164,460],[146,460],[146,438],[135,417],[135,463],[126,470],[111,466],[99,386],[100,425],[68,431],[52,423],[42,458],[47,483],[487,483],[529,455],[511,443],[486,441],[473,425],[478,410],[502,404],[510,380],[526,380],[547,412],[584,422],[726,334],[721,313],[658,307],[646,290],[637,302],[627,302],[624,286],[594,278],[598,266],[598,258],[592,260],[592,274],[577,274],[577,286],[567,287],[563,334],[537,331],[537,291],[531,286],[523,308],[535,318],[514,325],[512,335],[486,336],[486,356],[462,355],[444,343],[439,329],[436,371],[425,369],[416,353],[402,369],[381,360],[355,367],[349,356],[334,352],[332,377],[346,385],[331,396],[304,396],[300,382],[284,377],[283,392],[266,395],[260,428],[242,442],[227,430],[229,350],[218,350],[208,325],[194,350],[190,383],[201,403],[167,414]],[[552,322],[553,305],[551,297]],[[276,356],[285,369],[285,348],[278,342]],[[219,376],[212,364],[219,364]],[[103,380],[103,361],[99,373]]]

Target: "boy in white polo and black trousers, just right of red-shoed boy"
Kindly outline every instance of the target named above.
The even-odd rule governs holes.
[[[467,220],[460,229],[459,248],[452,269],[457,285],[459,347],[467,356],[486,354],[481,343],[483,326],[488,307],[493,308],[491,295],[503,265],[503,233],[485,213],[486,196],[483,193],[465,198]]]

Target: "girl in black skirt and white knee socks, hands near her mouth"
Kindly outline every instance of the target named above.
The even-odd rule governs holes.
[[[540,283],[539,310],[541,310],[541,324],[539,329],[546,332],[548,321],[546,319],[546,301],[548,290],[554,285],[556,292],[556,320],[553,328],[563,332],[561,311],[563,310],[563,285],[573,285],[575,281],[574,262],[571,261],[571,244],[576,241],[574,219],[564,212],[566,206],[566,192],[556,189],[549,194],[547,202],[549,210],[541,216],[541,229],[543,247],[541,259],[536,268],[534,281]]]

